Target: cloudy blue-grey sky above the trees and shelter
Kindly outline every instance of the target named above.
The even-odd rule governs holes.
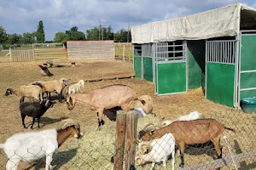
[[[256,8],[256,0],[2,0],[0,26],[9,34],[36,31],[44,21],[46,41],[58,31],[112,26],[113,31],[152,21],[195,14],[232,3]]]

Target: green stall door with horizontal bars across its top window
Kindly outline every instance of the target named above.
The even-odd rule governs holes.
[[[156,94],[187,92],[186,42],[156,42],[154,49]]]

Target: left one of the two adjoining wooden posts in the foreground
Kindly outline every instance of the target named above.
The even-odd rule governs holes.
[[[116,119],[116,139],[115,151],[113,158],[113,170],[123,169],[124,150],[125,150],[125,128],[126,128],[126,113],[119,111]]]

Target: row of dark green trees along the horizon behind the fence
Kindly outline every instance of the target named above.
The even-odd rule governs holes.
[[[86,34],[86,35],[85,35]],[[79,31],[78,26],[73,26],[67,31],[58,31],[55,33],[53,42],[62,41],[79,41],[79,40],[114,40],[115,42],[127,42],[128,31],[121,29],[116,33],[113,33],[112,26],[94,27],[85,31]],[[36,37],[36,38],[35,38]],[[129,31],[128,42],[131,42],[131,32]],[[40,20],[38,22],[37,31],[25,32],[22,35],[19,34],[8,34],[3,26],[0,26],[0,44],[21,44],[21,43],[44,43],[44,22]],[[52,42],[52,41],[48,41]]]

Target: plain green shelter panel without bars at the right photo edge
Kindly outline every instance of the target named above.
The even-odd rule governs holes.
[[[240,100],[256,96],[256,35],[241,32]]]

